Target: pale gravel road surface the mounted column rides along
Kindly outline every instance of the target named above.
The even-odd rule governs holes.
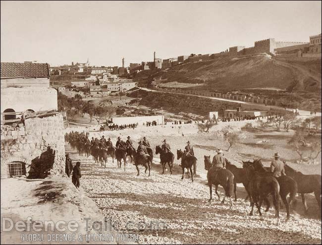
[[[282,209],[277,224],[272,208],[263,211],[264,220],[257,209],[248,216],[249,203],[243,199],[233,202],[232,209],[227,199],[220,204],[213,196],[209,203],[209,187],[201,178],[191,183],[168,172],[161,175],[155,166],[151,177],[139,167],[137,177],[131,164],[124,172],[117,169],[116,161],[102,168],[92,158],[77,154],[71,158],[82,162],[81,185],[89,197],[111,222],[117,222],[116,231],[138,234],[138,244],[321,244],[321,220],[293,214],[285,222]],[[126,230],[126,224],[133,230]]]

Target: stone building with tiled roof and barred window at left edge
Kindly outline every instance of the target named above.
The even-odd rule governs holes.
[[[47,63],[1,62],[0,135],[1,178],[64,174],[63,117]]]

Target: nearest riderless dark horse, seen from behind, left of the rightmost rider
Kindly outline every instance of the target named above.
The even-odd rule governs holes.
[[[251,195],[252,206],[252,210],[249,215],[253,215],[254,204],[256,204],[258,212],[262,218],[262,203],[264,200],[268,199],[269,195],[272,195],[273,205],[275,207],[275,217],[279,219],[279,184],[277,180],[271,176],[259,176],[251,165],[247,167],[247,178],[250,181],[248,189]]]

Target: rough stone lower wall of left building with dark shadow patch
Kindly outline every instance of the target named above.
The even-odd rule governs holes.
[[[24,162],[28,178],[63,175],[65,148],[60,114],[1,126],[1,179],[7,178],[7,164]],[[8,144],[10,143],[10,145]],[[50,147],[50,149],[49,149]]]

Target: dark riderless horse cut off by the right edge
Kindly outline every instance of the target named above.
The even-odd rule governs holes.
[[[305,193],[314,192],[317,199],[320,215],[321,215],[321,175],[304,175],[301,172],[295,171],[284,162],[285,174],[292,177],[298,186],[298,193],[301,194],[302,202],[304,205],[305,213],[308,212],[308,206],[306,204]]]

